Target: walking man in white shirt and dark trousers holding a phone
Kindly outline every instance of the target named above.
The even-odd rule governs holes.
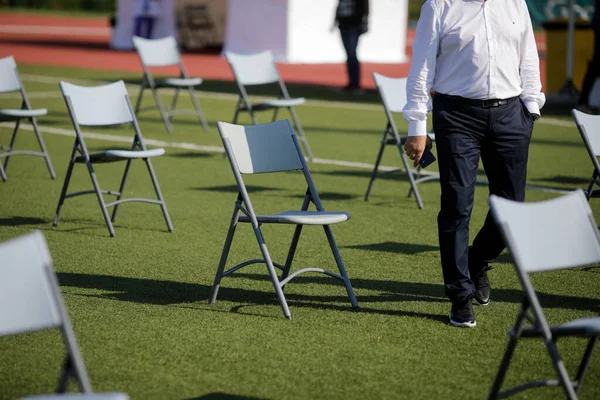
[[[416,166],[427,140],[430,90],[440,169],[440,255],[450,324],[476,325],[472,302],[487,305],[488,260],[504,241],[488,212],[469,248],[477,168],[490,193],[525,200],[533,123],[540,116],[538,52],[525,0],[427,0],[413,44],[403,113],[404,149]]]

